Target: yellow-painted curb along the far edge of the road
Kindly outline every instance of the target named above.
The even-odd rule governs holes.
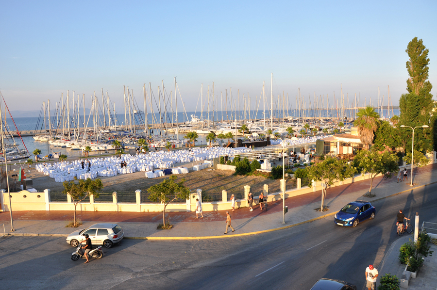
[[[434,183],[437,183],[437,181],[433,181],[433,182],[430,182],[430,183],[422,184],[422,185],[419,185],[419,186],[416,186],[416,187],[412,187],[412,188],[407,189],[407,190],[403,190],[403,191],[398,192],[398,193],[393,193],[393,194],[390,194],[390,195],[387,195],[387,196],[384,196],[384,197],[373,199],[373,200],[371,200],[371,202],[379,201],[379,200],[385,199],[387,197],[391,197],[391,196],[395,196],[395,195],[398,195],[398,194],[406,193],[406,192],[409,192],[411,190],[418,189],[418,188],[421,188],[421,187],[424,187],[424,186],[428,186],[428,185],[431,185],[431,184],[434,184]],[[300,225],[311,223],[311,222],[317,221],[319,219],[322,219],[322,218],[325,218],[325,217],[328,217],[328,216],[331,216],[331,215],[334,215],[334,214],[336,214],[336,212],[327,213],[327,214],[321,215],[319,217],[315,217],[315,218],[312,218],[312,219],[309,219],[309,220],[306,220],[306,221],[302,221],[300,223],[292,224],[292,225],[289,225],[289,226],[281,226],[281,227],[277,227],[277,228],[271,228],[271,229],[266,229],[266,230],[261,230],[261,231],[256,231],[256,232],[250,232],[250,233],[243,233],[243,234],[230,234],[230,235],[204,236],[204,237],[126,237],[125,236],[124,239],[127,239],[127,240],[163,241],[163,240],[207,240],[207,239],[225,239],[225,238],[243,237],[243,236],[251,236],[251,235],[256,235],[256,234],[263,234],[263,233],[273,232],[273,231],[277,231],[277,230],[283,230],[283,229],[287,229],[287,228],[290,228],[290,227],[293,227],[293,226],[300,226]],[[68,236],[68,234],[28,234],[28,233],[9,233],[9,234],[13,235],[13,236],[40,236],[40,237],[67,237]]]

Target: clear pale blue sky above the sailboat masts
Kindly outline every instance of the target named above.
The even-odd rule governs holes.
[[[174,91],[187,111],[208,85],[215,95],[288,94],[299,89],[352,103],[393,105],[406,93],[405,49],[414,37],[429,49],[429,81],[437,94],[437,1],[6,1],[0,0],[0,91],[10,110],[39,110],[69,90],[101,89],[116,110],[123,85],[140,105],[145,83]],[[174,93],[173,93],[174,94]],[[205,97],[206,98],[206,97]],[[178,97],[179,110],[181,99]],[[220,101],[218,101],[220,102]],[[268,103],[270,101],[268,100]],[[142,105],[140,105],[141,107]],[[326,106],[326,101],[325,101]],[[262,104],[261,104],[262,107]]]

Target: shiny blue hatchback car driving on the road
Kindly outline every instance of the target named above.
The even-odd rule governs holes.
[[[375,218],[375,207],[368,201],[357,200],[348,203],[334,216],[334,221],[339,226],[358,226],[367,219]]]

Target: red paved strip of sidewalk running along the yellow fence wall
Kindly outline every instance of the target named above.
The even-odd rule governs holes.
[[[421,168],[415,168],[414,174],[420,175],[436,169],[437,163]],[[408,170],[408,178],[410,178],[410,176]],[[396,182],[396,174],[387,180],[384,180],[382,177],[376,177],[373,181],[373,188],[378,188],[379,186],[392,182]],[[328,189],[326,199],[336,198],[340,195],[347,195],[369,188],[370,179],[336,186]],[[287,198],[286,206],[288,206],[288,209],[293,209],[303,205],[320,202],[320,198],[321,191],[306,193]],[[317,207],[319,207],[319,205],[315,204],[315,208]],[[245,219],[282,211],[282,200],[269,203],[268,211],[265,209],[261,211],[259,206],[254,206],[253,209],[252,212],[249,211],[248,208],[236,209],[235,212],[231,212],[232,218]],[[226,210],[204,212],[204,218],[199,218],[198,220],[193,218],[195,215],[195,212],[167,212],[166,218],[172,223],[216,222],[223,221],[226,218]],[[162,221],[161,212],[78,211],[77,217],[84,222],[160,223]],[[73,218],[73,213],[71,211],[13,211],[13,218],[14,220],[67,221]],[[0,213],[0,222],[9,220],[10,216],[8,211]]]

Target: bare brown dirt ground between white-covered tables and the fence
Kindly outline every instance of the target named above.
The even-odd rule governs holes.
[[[27,172],[26,177],[33,179],[34,188],[38,192],[45,189],[50,189],[53,193],[61,193],[64,186],[61,182],[55,182],[54,178],[39,173],[34,168],[31,172]],[[195,192],[198,188],[202,189],[204,193],[218,193],[222,190],[242,190],[243,186],[257,186],[262,187],[263,184],[277,184],[279,180],[273,180],[258,176],[234,176],[234,172],[225,170],[203,169],[201,171],[193,171],[188,174],[178,175],[179,178],[185,178],[185,186],[191,192]],[[142,191],[147,190],[154,184],[164,180],[166,177],[147,178],[145,172],[135,172],[132,174],[118,174],[113,177],[99,177],[103,182],[103,193],[127,193],[134,192],[137,189]],[[178,180],[179,180],[178,178]]]

